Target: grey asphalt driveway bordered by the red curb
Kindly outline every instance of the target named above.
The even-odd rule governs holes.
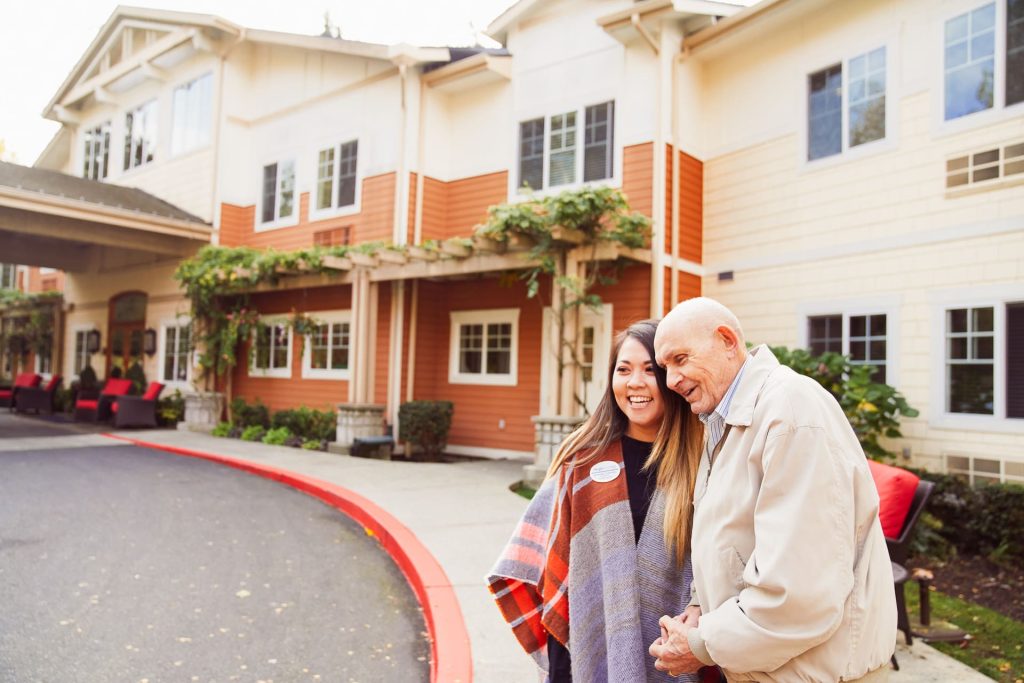
[[[391,559],[312,498],[131,445],[0,444],[0,681],[427,681],[429,653]]]

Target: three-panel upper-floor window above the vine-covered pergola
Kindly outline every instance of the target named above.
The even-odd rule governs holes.
[[[519,123],[519,188],[607,180],[614,174],[613,101]],[[583,154],[580,123],[583,122]]]

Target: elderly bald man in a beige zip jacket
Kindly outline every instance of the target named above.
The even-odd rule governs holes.
[[[893,575],[863,451],[833,398],[748,353],[735,315],[684,301],[657,328],[669,386],[705,423],[693,494],[693,588],[650,646],[672,675],[884,681],[896,644]]]

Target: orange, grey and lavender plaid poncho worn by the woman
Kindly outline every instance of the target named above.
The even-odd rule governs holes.
[[[618,468],[615,478],[592,478],[592,467],[606,461]],[[679,568],[666,550],[664,513],[655,493],[636,542],[618,442],[541,486],[487,582],[542,669],[551,634],[568,647],[580,683],[697,680],[655,670],[647,654],[660,636],[658,618],[681,613],[689,599],[689,561]]]

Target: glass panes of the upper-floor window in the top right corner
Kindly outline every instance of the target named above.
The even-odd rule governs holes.
[[[1005,60],[996,54],[998,33],[1006,34]],[[946,20],[943,46],[946,121],[1000,100],[1024,101],[1024,0],[990,2]]]

